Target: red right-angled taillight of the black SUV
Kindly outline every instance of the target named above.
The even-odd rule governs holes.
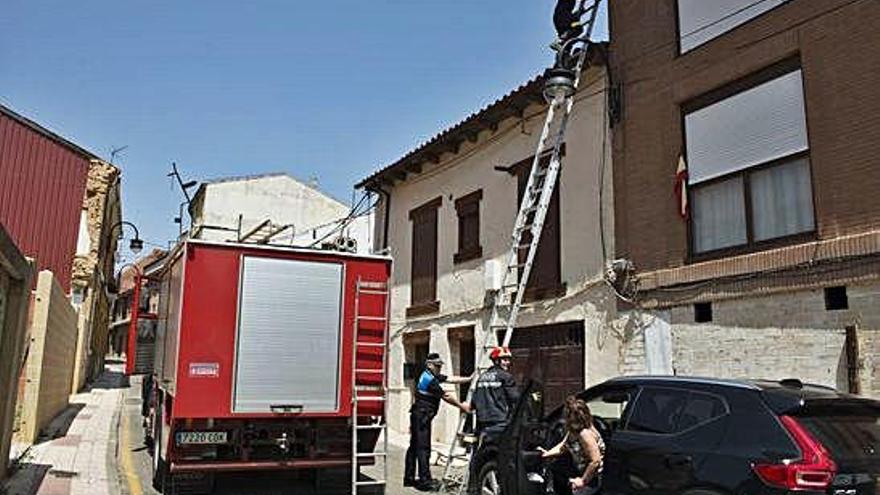
[[[786,490],[825,490],[834,480],[837,464],[828,449],[791,416],[779,418],[801,451],[800,459],[752,466],[761,481]]]

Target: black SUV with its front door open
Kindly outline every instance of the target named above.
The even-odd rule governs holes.
[[[568,495],[564,434],[530,384],[505,435],[474,455],[470,493]],[[627,377],[578,397],[607,445],[604,495],[880,495],[880,402],[798,380]]]

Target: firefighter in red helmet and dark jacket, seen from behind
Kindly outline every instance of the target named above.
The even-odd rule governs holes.
[[[510,349],[496,347],[489,357],[492,367],[480,375],[471,401],[471,408],[477,412],[477,432],[481,437],[503,432],[519,401],[516,379],[510,374],[513,358]]]

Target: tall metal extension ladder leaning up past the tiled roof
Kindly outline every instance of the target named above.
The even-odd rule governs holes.
[[[504,332],[501,341],[502,346],[508,346],[513,337],[516,320],[523,304],[523,296],[526,292],[529,276],[538,251],[541,240],[541,232],[544,228],[544,220],[553,190],[559,177],[562,145],[565,141],[565,131],[571,110],[574,107],[577,88],[580,84],[581,71],[587,60],[587,48],[593,26],[596,21],[601,0],[581,0],[578,3],[580,12],[586,21],[582,23],[583,34],[576,40],[580,44],[573,54],[574,64],[570,69],[574,71],[574,91],[567,97],[559,97],[552,101],[547,110],[544,127],[538,146],[532,161],[531,172],[526,183],[519,211],[514,222],[511,236],[510,250],[507,254],[507,264],[502,275],[500,290],[496,291],[492,314],[489,325],[483,328],[479,341],[481,342],[481,355],[477,361],[478,373],[471,380],[468,389],[467,401],[473,398],[476,382],[479,375],[491,365],[489,354],[498,342],[498,334]],[[564,49],[563,49],[564,50]],[[562,60],[564,54],[558,57]],[[547,152],[550,151],[549,160]],[[446,457],[446,467],[443,471],[443,487],[447,492],[454,490],[455,493],[467,493],[470,477],[470,457],[476,448],[476,439],[465,433],[467,415],[461,414],[458,420],[456,436],[450,442],[449,454]],[[462,446],[459,446],[462,444]],[[456,465],[457,464],[457,465]]]

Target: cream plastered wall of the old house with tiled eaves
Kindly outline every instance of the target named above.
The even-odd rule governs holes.
[[[521,312],[519,326],[580,320],[585,322],[585,382],[594,384],[617,374],[618,341],[606,324],[616,308],[616,301],[602,283],[604,267],[600,235],[600,211],[604,214],[606,250],[614,252],[613,202],[611,194],[610,144],[607,141],[604,79],[598,69],[589,71],[585,81],[596,81],[581,89],[566,137],[566,157],[560,180],[561,263],[566,295],[540,301]],[[450,356],[448,330],[453,327],[487,324],[484,309],[484,267],[487,260],[503,269],[510,248],[510,235],[517,211],[515,176],[495,167],[509,167],[534,154],[544,108],[532,105],[525,111],[526,120],[510,118],[496,132],[483,131],[477,143],[466,142],[458,154],[445,154],[437,165],[426,166],[418,175],[410,175],[390,189],[389,247],[395,260],[392,275],[392,345],[391,427],[405,432],[411,394],[403,380],[405,335],[429,332],[431,352],[439,352],[447,362]],[[603,150],[605,156],[603,157]],[[600,182],[604,164],[604,176]],[[600,208],[600,189],[604,187]],[[453,263],[458,247],[458,218],[455,199],[477,189],[483,190],[480,202],[480,243],[483,257],[461,264]],[[410,269],[412,224],[410,210],[438,196],[438,281],[440,311],[419,318],[407,318],[410,305]],[[384,205],[383,205],[384,206]],[[381,242],[384,212],[380,208],[376,238]],[[477,342],[479,352],[480,342]],[[451,359],[450,359],[451,357]],[[454,370],[445,370],[451,373]],[[449,386],[450,390],[453,388]],[[446,442],[454,431],[457,415],[444,406],[434,423],[434,440]]]

